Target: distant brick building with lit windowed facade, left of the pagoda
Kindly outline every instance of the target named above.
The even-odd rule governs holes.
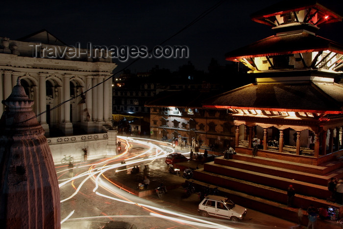
[[[227,109],[203,108],[201,102],[219,91],[211,85],[172,85],[146,103],[150,107],[150,137],[192,146],[224,150],[234,144],[235,127]]]

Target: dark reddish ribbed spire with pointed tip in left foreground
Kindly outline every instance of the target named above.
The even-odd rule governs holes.
[[[58,180],[44,129],[18,78],[0,119],[0,222],[11,229],[60,229]]]

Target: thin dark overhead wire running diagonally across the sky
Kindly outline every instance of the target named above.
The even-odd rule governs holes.
[[[164,41],[162,41],[159,45],[163,45],[164,43],[166,43],[167,41],[169,41],[170,39],[172,39],[174,36],[178,35],[178,34],[181,33],[182,31],[184,31],[184,30],[186,30],[187,28],[189,28],[190,26],[196,24],[199,20],[201,20],[202,18],[204,18],[205,16],[207,16],[209,13],[211,13],[213,10],[215,10],[216,8],[218,8],[224,1],[225,1],[225,0],[220,0],[220,1],[218,1],[217,3],[215,3],[213,6],[211,6],[210,8],[206,9],[205,11],[203,11],[203,12],[202,12],[199,16],[197,16],[192,22],[190,22],[189,24],[187,24],[186,26],[182,27],[180,30],[178,30],[177,32],[175,32],[174,34],[172,34],[171,36],[169,36],[167,39],[165,39]],[[148,51],[148,53],[151,53],[152,50],[153,50],[153,49],[150,49],[150,50]],[[72,101],[73,99],[75,99],[75,98],[77,98],[77,97],[85,96],[86,93],[87,93],[88,91],[90,91],[90,90],[92,90],[93,88],[97,87],[98,85],[100,85],[100,84],[106,82],[107,80],[112,79],[112,78],[113,78],[114,76],[116,76],[118,73],[124,71],[125,69],[127,69],[127,68],[130,67],[132,64],[134,64],[134,63],[136,63],[137,61],[139,61],[140,59],[142,59],[142,58],[139,57],[139,58],[137,58],[137,59],[131,61],[131,63],[127,64],[127,65],[126,65],[125,67],[123,67],[122,69],[116,71],[112,76],[110,76],[110,77],[108,77],[107,79],[103,80],[102,82],[99,82],[98,84],[92,86],[91,88],[89,88],[89,89],[87,89],[86,91],[80,93],[79,95],[74,96],[73,98],[71,98],[71,99],[69,99],[69,100],[66,100],[66,101],[64,101],[64,102],[61,102],[61,103],[57,104],[56,106],[54,106],[54,107],[52,107],[52,108],[50,108],[50,109],[47,109],[47,110],[45,110],[45,111],[43,111],[43,112],[41,112],[41,113],[39,113],[39,114],[37,114],[37,115],[35,115],[35,116],[32,116],[31,118],[28,118],[28,119],[26,119],[26,120],[24,120],[24,121],[22,121],[22,122],[16,123],[16,124],[24,123],[24,122],[27,122],[27,121],[29,121],[29,120],[31,120],[31,119],[35,119],[35,118],[41,116],[42,114],[47,113],[48,110],[49,110],[49,111],[54,110],[54,109],[56,109],[56,108],[62,106],[62,105],[65,104],[66,102],[70,102],[70,101]]]

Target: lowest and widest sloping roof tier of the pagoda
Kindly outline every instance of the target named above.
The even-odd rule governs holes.
[[[248,84],[210,98],[203,107],[342,114],[343,86],[314,82]]]

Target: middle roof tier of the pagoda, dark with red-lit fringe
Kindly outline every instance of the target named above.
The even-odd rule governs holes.
[[[250,57],[295,54],[313,51],[333,51],[343,54],[343,46],[334,41],[302,32],[290,35],[274,35],[254,42],[225,54],[226,60],[237,60]]]

